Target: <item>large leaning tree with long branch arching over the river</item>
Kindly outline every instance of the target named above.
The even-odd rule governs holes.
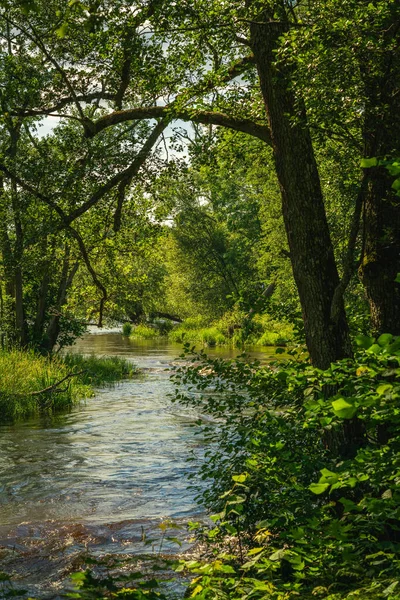
[[[390,5],[386,24],[394,37],[397,17],[394,3]],[[325,15],[322,26],[327,31],[343,29],[340,3],[333,2],[332,6],[337,19],[328,20]],[[354,7],[355,3],[351,6]],[[229,7],[219,1],[211,5],[198,2],[195,7],[159,1],[145,6],[134,5],[126,11],[124,3],[114,0],[107,4],[107,11],[105,4],[96,3],[89,15],[80,2],[68,8],[54,2],[51,5],[54,12],[51,9],[44,12],[40,3],[36,7],[38,12],[32,11],[29,19],[25,15],[23,24],[18,8],[11,17],[3,14],[2,18],[29,39],[35,51],[43,57],[49,73],[55,77],[56,93],[53,92],[52,97],[42,94],[40,102],[27,107],[20,105],[15,109],[16,114],[65,112],[81,124],[89,138],[99,136],[105,129],[117,124],[165,119],[156,125],[153,136],[145,142],[140,160],[135,159],[125,172],[111,177],[105,184],[107,190],[119,183],[125,184],[137,175],[144,162],[142,158],[149,156],[167,123],[176,118],[229,127],[272,145],[311,358],[317,366],[326,367],[332,360],[349,355],[351,348],[343,293],[354,271],[360,206],[364,202],[366,184],[364,180],[361,182],[359,197],[355,201],[347,266],[340,281],[315,159],[315,138],[308,122],[306,109],[309,101],[294,87],[299,68],[293,60],[293,53],[289,58],[279,55],[283,47],[293,47],[293,32],[307,28],[312,30],[316,26],[320,5],[316,11],[307,12],[301,2],[286,3],[283,0],[261,3],[238,1]],[[381,6],[377,6],[373,10],[379,13],[380,9]],[[369,22],[368,19],[362,21],[360,13],[354,14],[358,23]],[[127,32],[126,35],[121,35],[123,31]],[[379,27],[374,29],[370,26],[368,31],[375,32],[379,39],[385,37],[382,37]],[[239,48],[238,42],[241,44]],[[77,51],[78,43],[85,49],[84,52]],[[387,54],[390,64],[394,47],[395,44]],[[379,54],[379,50],[377,52]],[[106,57],[106,60],[101,57]],[[158,66],[156,72],[154,64]],[[339,64],[342,66],[342,63]],[[346,61],[343,65],[347,66]],[[361,72],[361,67],[359,62],[358,72]],[[373,92],[379,83],[379,79],[375,79],[368,96],[374,107],[379,100]],[[395,85],[394,76],[391,81]],[[99,82],[102,82],[101,87]],[[102,98],[101,111],[104,114],[100,118],[96,118],[99,111],[89,116],[82,108],[82,102],[96,98]],[[358,100],[362,103],[364,96],[359,94]],[[262,109],[263,105],[266,112]],[[68,108],[70,106],[74,107],[74,114]],[[111,108],[111,112],[109,108],[106,110],[106,106]],[[112,110],[113,107],[117,110]],[[393,112],[386,113],[390,115],[389,123]],[[94,194],[67,215],[65,223],[90,210],[101,200],[102,194],[99,194]],[[376,198],[379,194],[374,192],[372,195]],[[377,202],[372,204],[378,206]],[[386,203],[386,206],[389,204]],[[373,215],[377,211],[374,213],[367,210],[367,204],[365,206],[365,231],[371,229],[371,241],[376,234],[382,239],[379,231],[386,231],[386,219],[390,218],[390,214],[377,231],[373,225]],[[382,242],[379,244],[384,246]],[[381,281],[382,278],[383,275],[380,277],[378,274],[377,279]],[[368,276],[364,275],[363,279],[371,299],[372,287],[384,289],[382,281],[372,286]],[[378,294],[378,302],[377,294],[374,295],[375,304],[384,302],[381,293]],[[393,304],[393,294],[390,302]]]

